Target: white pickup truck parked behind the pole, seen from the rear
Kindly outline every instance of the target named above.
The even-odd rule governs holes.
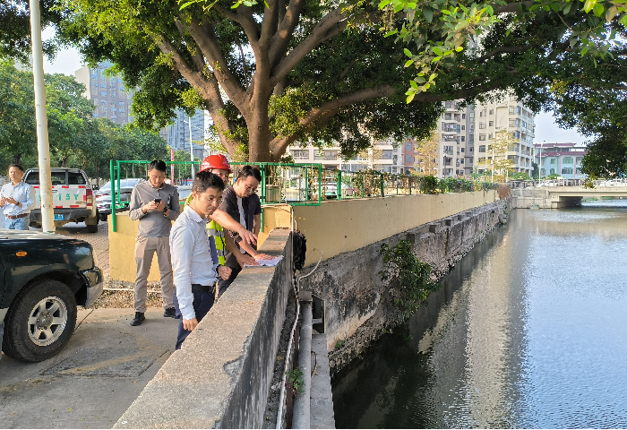
[[[98,231],[99,214],[94,202],[90,181],[78,168],[51,168],[52,204],[55,206],[55,226],[68,222],[85,221],[88,233]],[[41,227],[41,193],[39,190],[39,168],[30,168],[23,181],[35,188],[35,208],[30,211],[30,225]]]

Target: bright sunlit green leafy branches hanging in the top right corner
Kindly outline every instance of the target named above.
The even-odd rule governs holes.
[[[457,0],[381,0],[379,9],[384,11],[385,19],[380,30],[385,31],[385,37],[395,35],[397,42],[416,45],[413,51],[408,47],[403,49],[408,56],[405,67],[413,65],[417,69],[417,76],[409,82],[407,102],[418,93],[434,88],[436,78],[442,73],[439,69],[453,66],[452,60],[457,54],[465,51],[469,44],[477,45],[478,36],[502,22],[498,8],[505,5],[502,0],[468,5]],[[569,16],[573,21],[581,12],[588,16],[581,19],[578,15],[573,25],[564,20]],[[611,47],[624,46],[616,35],[617,25],[627,27],[626,0],[536,0],[528,9],[520,4],[519,11],[509,17],[511,24],[506,37],[514,29],[525,34],[528,22],[538,13],[557,13],[571,33],[571,48],[579,50],[581,56],[592,55],[595,64],[597,57],[612,56]],[[404,18],[403,23],[396,28],[400,18]],[[470,54],[474,50],[470,49]]]

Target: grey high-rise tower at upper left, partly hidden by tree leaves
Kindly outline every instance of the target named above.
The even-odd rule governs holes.
[[[84,66],[74,75],[76,81],[85,85],[83,96],[96,105],[95,117],[108,118],[116,124],[125,125],[132,121],[129,111],[133,95],[126,90],[121,77],[105,75],[105,71],[112,65],[110,62],[104,62],[96,68]]]

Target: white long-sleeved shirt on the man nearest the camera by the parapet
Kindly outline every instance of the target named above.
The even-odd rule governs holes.
[[[183,319],[196,317],[192,284],[212,286],[218,279],[213,263],[206,226],[209,221],[187,206],[170,232],[170,253],[178,307]]]

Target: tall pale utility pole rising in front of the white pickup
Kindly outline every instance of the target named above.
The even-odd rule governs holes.
[[[44,54],[41,43],[39,0],[30,0],[30,39],[32,40],[32,73],[35,84],[41,225],[44,233],[55,233],[55,209],[52,205],[50,144],[47,134],[46,84],[44,82]]]

